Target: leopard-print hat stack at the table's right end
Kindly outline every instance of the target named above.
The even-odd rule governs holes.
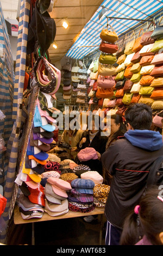
[[[95,206],[105,207],[109,191],[110,186],[106,184],[98,184],[93,188],[93,198]]]

